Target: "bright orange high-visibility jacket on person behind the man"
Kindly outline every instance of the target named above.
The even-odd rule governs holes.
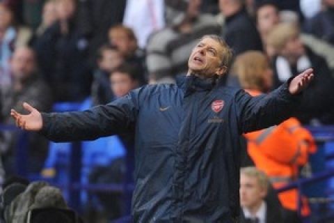
[[[259,92],[248,91],[250,95]],[[264,171],[274,188],[282,187],[299,175],[299,167],[308,162],[308,155],[315,153],[315,140],[296,118],[289,118],[280,125],[244,134],[248,139],[248,154],[255,166]],[[297,210],[297,190],[278,194],[283,207]],[[304,203],[302,215],[310,214]]]

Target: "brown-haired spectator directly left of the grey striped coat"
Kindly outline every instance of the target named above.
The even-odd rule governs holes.
[[[139,83],[146,83],[145,54],[138,48],[137,39],[134,31],[124,25],[112,26],[109,29],[109,43],[116,45],[125,63],[129,63],[136,69]]]

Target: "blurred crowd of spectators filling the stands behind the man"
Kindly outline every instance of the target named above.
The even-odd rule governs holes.
[[[334,124],[333,0],[0,1],[0,123],[14,124],[10,109],[24,112],[22,102],[47,112],[56,102],[102,105],[143,84],[175,83],[206,34],[234,53],[225,85],[267,93],[314,68],[295,117]],[[13,173],[15,137],[0,132],[0,183]],[[120,139],[132,148],[132,137]],[[47,142],[31,134],[29,148],[38,172]]]

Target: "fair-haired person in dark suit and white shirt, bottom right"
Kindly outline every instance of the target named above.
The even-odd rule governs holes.
[[[269,179],[255,167],[240,170],[240,223],[283,223],[283,209],[265,201]],[[291,223],[291,222],[289,222]]]

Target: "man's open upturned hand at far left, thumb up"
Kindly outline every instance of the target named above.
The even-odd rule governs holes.
[[[43,120],[42,115],[37,109],[29,105],[28,103],[23,103],[24,109],[28,110],[29,114],[19,114],[14,109],[10,111],[10,116],[15,119],[17,127],[22,128],[22,130],[32,130],[38,131],[42,129]]]

